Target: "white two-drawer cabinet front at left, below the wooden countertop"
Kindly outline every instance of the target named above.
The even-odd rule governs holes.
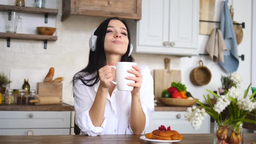
[[[0,111],[0,135],[69,135],[70,111]]]

